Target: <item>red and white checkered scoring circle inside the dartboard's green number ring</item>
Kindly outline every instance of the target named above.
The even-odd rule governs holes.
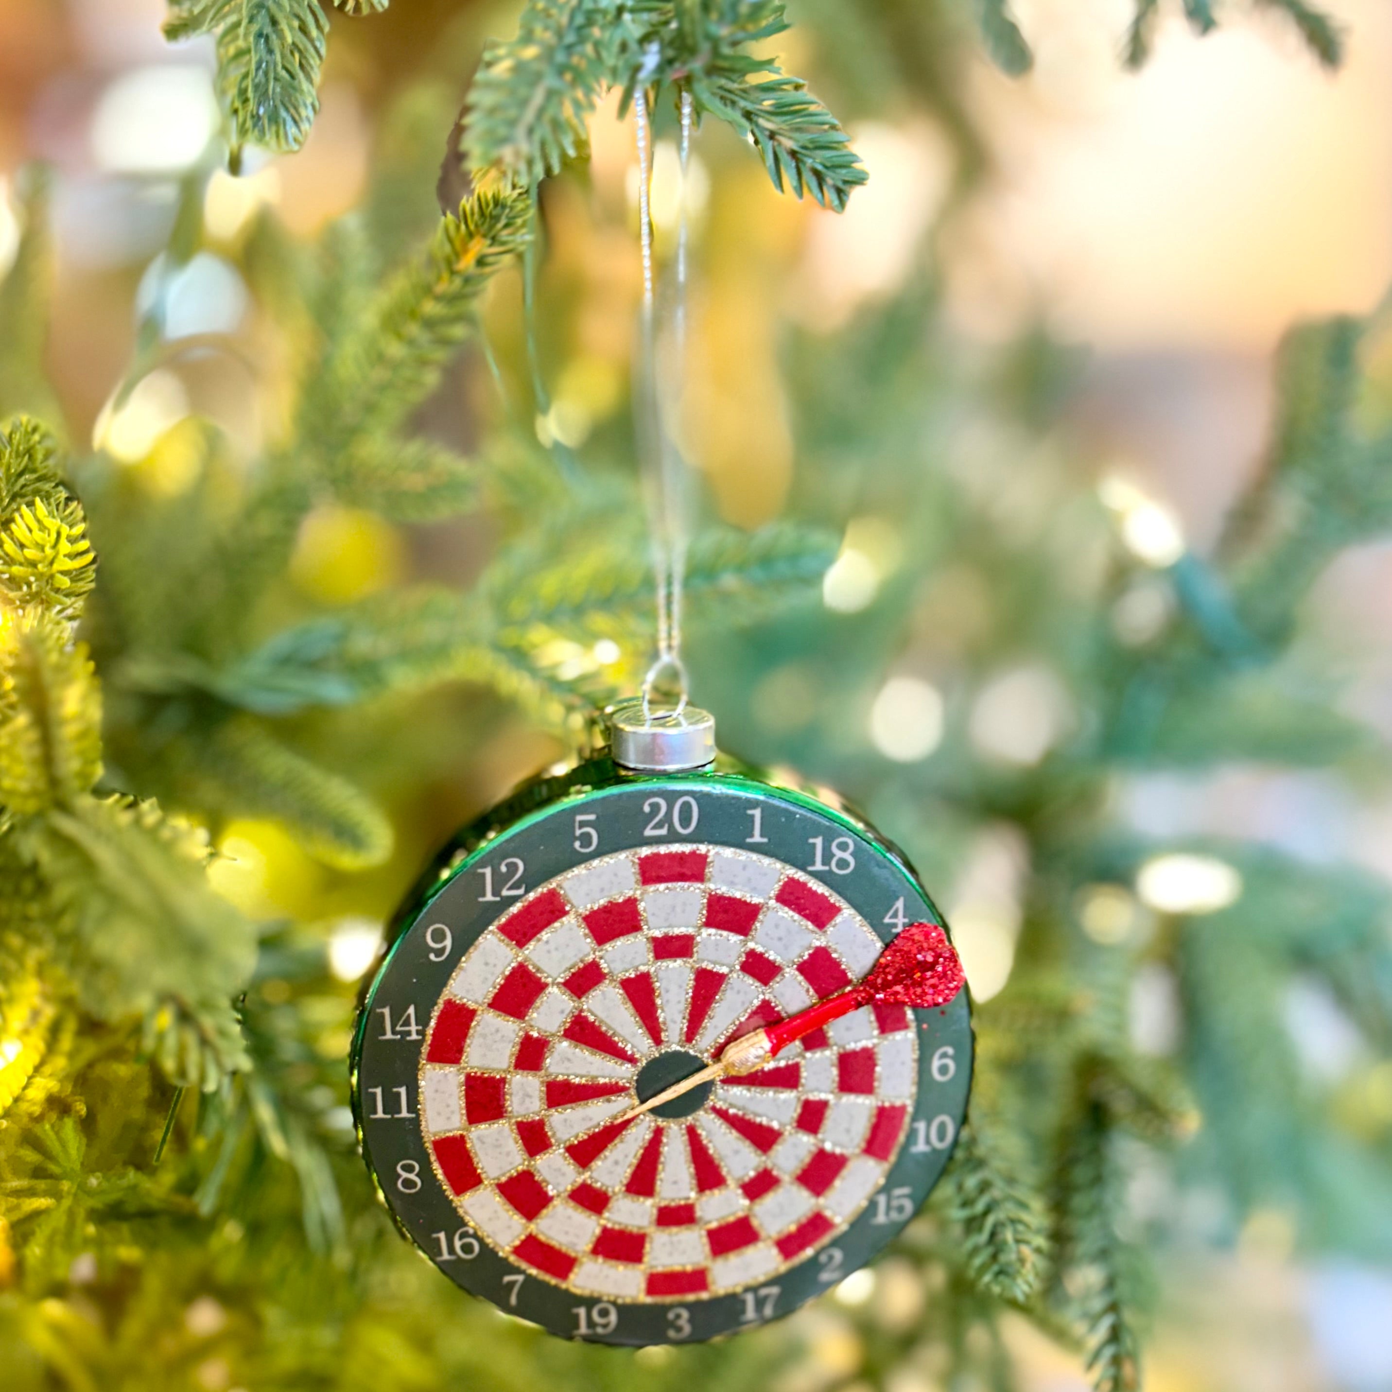
[[[420,1125],[441,1183],[509,1260],[597,1297],[721,1295],[806,1260],[903,1143],[908,1011],[856,1011],[693,1115],[614,1118],[649,1059],[715,1058],[881,948],[824,885],[750,852],[631,851],[558,876],[475,942],[433,1012]]]

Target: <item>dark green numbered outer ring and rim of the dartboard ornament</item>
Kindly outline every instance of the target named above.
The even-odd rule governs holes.
[[[693,834],[683,837],[672,832],[661,839],[642,835],[647,820],[642,813],[642,803],[664,791],[670,791],[674,799],[688,793],[697,796],[700,824]],[[902,852],[844,805],[832,806],[832,799],[834,795],[821,789],[814,796],[806,788],[756,777],[724,760],[710,770],[642,775],[621,771],[610,759],[601,757],[564,774],[525,784],[507,802],[466,827],[420,878],[393,920],[384,955],[359,1004],[349,1065],[352,1107],[363,1160],[379,1199],[387,1205],[397,1226],[461,1288],[562,1338],[585,1336],[592,1342],[615,1345],[695,1342],[791,1314],[798,1306],[831,1289],[835,1281],[870,1261],[917,1211],[942,1173],[966,1115],[973,1037],[965,990],[941,1009],[913,1012],[920,1031],[917,1096],[909,1133],[881,1190],[887,1197],[894,1190],[908,1190],[906,1214],[905,1200],[898,1199],[895,1218],[876,1224],[873,1219],[878,1205],[871,1199],[849,1228],[814,1250],[803,1263],[761,1283],[753,1299],[749,1293],[734,1292],[704,1299],[608,1302],[618,1311],[618,1320],[607,1336],[594,1332],[592,1313],[585,1317],[578,1314],[580,1307],[593,1311],[600,1302],[572,1295],[530,1268],[514,1265],[482,1237],[480,1250],[472,1260],[441,1263],[438,1239],[433,1235],[447,1233],[448,1244],[455,1232],[468,1229],[468,1222],[434,1176],[419,1123],[390,1118],[374,1121],[363,1115],[361,1094],[367,1086],[406,1087],[415,1109],[419,1054],[434,1002],[464,952],[509,908],[507,902],[479,906],[469,877],[482,866],[496,864],[518,851],[525,852],[530,885],[585,860],[636,846],[656,848],[699,841],[746,849],[745,835],[750,827],[746,813],[749,807],[760,806],[764,809],[763,831],[770,839],[748,849],[757,849],[798,866],[814,880],[823,881],[855,906],[885,941],[895,930],[884,923],[884,916],[901,895],[906,922],[927,919],[942,923]],[[562,814],[578,810],[603,810],[606,814],[604,839],[592,852],[576,852],[571,844],[572,824]],[[846,832],[857,844],[856,869],[852,873],[837,876],[807,869],[809,835]],[[870,855],[862,855],[862,848]],[[438,963],[430,960],[425,944],[425,930],[429,923],[436,922],[448,923],[454,937],[452,951]],[[400,1018],[412,1002],[416,1004],[422,1027],[420,1043],[384,1043],[369,1029],[374,1011],[386,1006]],[[930,1065],[934,1051],[944,1044],[955,1047],[956,1072],[952,1079],[937,1082]],[[952,1143],[947,1148],[913,1153],[912,1144],[917,1134],[915,1123],[927,1125],[944,1114],[954,1122]],[[398,1193],[394,1187],[393,1180],[401,1161],[415,1161],[419,1166],[422,1183],[413,1194]],[[834,1250],[841,1253],[839,1258],[828,1256]],[[512,1275],[526,1279],[521,1285],[515,1281],[504,1283],[504,1278]],[[766,1292],[774,1286],[778,1293],[770,1297]],[[690,1328],[682,1339],[674,1338],[674,1329],[683,1328],[686,1322],[671,1314],[678,1307],[688,1311]],[[586,1335],[579,1334],[582,1318],[589,1328]]]

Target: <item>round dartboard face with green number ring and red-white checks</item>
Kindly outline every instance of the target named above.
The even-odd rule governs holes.
[[[966,1108],[965,992],[625,1114],[938,922],[871,832],[734,775],[586,786],[451,864],[363,1004],[363,1154],[461,1286],[555,1334],[711,1338],[863,1265]]]

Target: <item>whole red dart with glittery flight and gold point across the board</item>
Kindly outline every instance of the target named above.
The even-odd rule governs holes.
[[[862,1005],[912,1005],[930,1009],[947,1005],[962,990],[966,977],[947,934],[935,923],[910,923],[885,949],[866,973],[864,979],[845,991],[817,1001],[786,1020],[768,1025],[764,1029],[742,1034],[731,1041],[725,1051],[690,1077],[683,1077],[664,1089],[646,1102],[629,1108],[608,1126],[624,1126],[632,1118],[650,1112],[674,1097],[731,1073],[753,1073],[763,1068],[775,1054],[789,1044],[796,1044],[805,1034],[820,1030],[832,1020],[860,1009]]]

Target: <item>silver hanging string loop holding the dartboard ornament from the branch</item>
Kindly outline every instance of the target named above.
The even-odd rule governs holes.
[[[657,57],[650,54],[651,64]],[[657,600],[657,657],[643,677],[643,715],[651,720],[651,703],[660,689],[675,689],[672,714],[681,717],[688,703],[689,681],[682,661],[682,583],[689,537],[686,464],[667,419],[678,409],[686,347],[686,170],[690,155],[692,100],[681,99],[681,198],[678,214],[674,284],[664,295],[664,324],[657,323],[657,294],[653,259],[651,178],[653,141],[647,93],[642,82],[633,96],[638,134],[638,219],[643,256],[642,341],[635,372],[635,413],[639,459],[647,498],[647,521]]]

